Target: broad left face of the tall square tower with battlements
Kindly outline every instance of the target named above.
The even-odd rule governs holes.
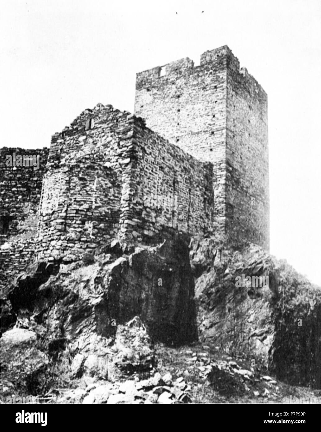
[[[206,53],[205,53],[206,54]],[[135,115],[162,137],[195,158],[214,166],[215,220],[225,229],[226,177],[226,56],[189,58],[138,73]],[[165,75],[161,70],[165,68]]]

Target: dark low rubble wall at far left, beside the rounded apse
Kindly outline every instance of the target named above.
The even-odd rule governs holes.
[[[49,149],[1,149],[1,290],[6,296],[9,285],[25,269],[35,251],[37,211],[42,178]],[[8,166],[6,156],[39,156],[39,168]],[[14,159],[13,159],[14,161]]]

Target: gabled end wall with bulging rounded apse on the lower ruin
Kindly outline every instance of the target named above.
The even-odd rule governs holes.
[[[116,237],[129,201],[129,115],[98,104],[53,135],[41,196],[39,260],[76,260]]]

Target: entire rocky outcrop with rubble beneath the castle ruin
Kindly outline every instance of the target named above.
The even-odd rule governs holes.
[[[177,391],[170,387],[170,374],[151,378],[158,363],[153,343],[198,339],[251,364],[252,372],[233,362],[209,364],[203,353],[198,372],[220,394],[242,396],[250,375],[266,370],[318,388],[321,290],[261,248],[241,253],[213,238],[177,234],[157,246],[114,242],[89,258],[36,263],[17,278],[8,297],[19,328],[1,339],[6,389],[43,394],[82,380],[88,388],[70,400],[189,402],[179,382]],[[142,383],[134,386],[133,377]],[[132,379],[125,390],[124,378]],[[101,387],[91,388],[97,380]]]

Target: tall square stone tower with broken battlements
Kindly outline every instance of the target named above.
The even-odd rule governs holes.
[[[140,72],[135,115],[214,166],[215,229],[269,249],[267,94],[226,45]]]

